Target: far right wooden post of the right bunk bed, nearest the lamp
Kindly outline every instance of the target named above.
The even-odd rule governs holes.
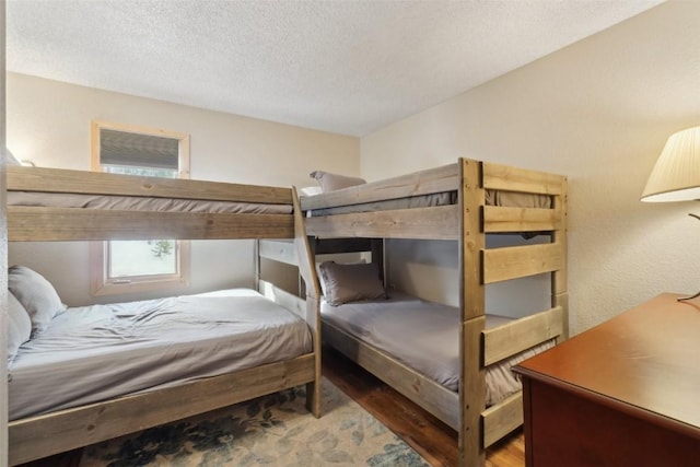
[[[562,316],[562,335],[557,339],[559,342],[569,339],[569,292],[567,287],[567,212],[569,203],[569,188],[567,179],[561,183],[561,194],[553,197],[553,208],[561,215],[561,226],[553,231],[552,243],[560,246],[562,254],[561,267],[551,273],[551,306],[561,306]]]

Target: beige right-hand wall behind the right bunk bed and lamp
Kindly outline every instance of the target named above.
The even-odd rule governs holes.
[[[700,205],[639,197],[666,138],[700,125],[699,22],[700,2],[664,3],[369,135],[362,175],[376,179],[458,156],[568,175],[574,332],[663,291],[695,292],[700,223],[686,213],[700,213]],[[436,255],[398,245],[409,267],[395,280],[450,301],[454,250],[433,248]],[[513,304],[497,295],[489,291],[492,310]]]

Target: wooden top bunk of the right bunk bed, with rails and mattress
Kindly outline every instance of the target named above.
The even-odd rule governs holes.
[[[301,198],[310,235],[458,240],[463,212],[482,233],[555,234],[565,225],[562,175],[459,159],[456,163]]]

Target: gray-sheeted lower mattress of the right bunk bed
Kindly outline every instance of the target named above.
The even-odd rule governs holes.
[[[390,354],[407,366],[451,390],[459,387],[459,310],[393,292],[388,300],[351,302],[340,306],[322,303],[323,319]],[[487,315],[492,328],[511,318]],[[511,367],[553,347],[541,345],[486,369],[487,406],[521,390]]]

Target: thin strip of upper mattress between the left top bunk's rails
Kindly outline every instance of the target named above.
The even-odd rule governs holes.
[[[8,191],[8,206],[236,214],[289,214],[292,212],[291,205],[148,198],[138,196],[45,194],[38,191]]]

